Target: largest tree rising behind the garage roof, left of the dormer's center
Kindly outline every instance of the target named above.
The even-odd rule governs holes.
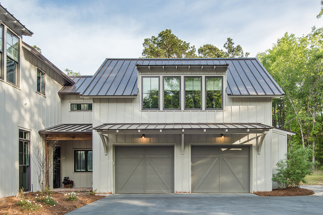
[[[195,47],[172,34],[171,29],[161,31],[157,37],[144,39],[142,56],[145,58],[195,58]]]

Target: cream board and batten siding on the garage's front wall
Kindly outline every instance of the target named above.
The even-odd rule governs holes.
[[[183,97],[182,97],[183,99]],[[204,100],[204,99],[203,99]],[[162,105],[160,105],[162,106]],[[224,110],[220,111],[142,111],[140,96],[135,98],[94,98],[93,127],[103,123],[263,123],[272,125],[272,100],[265,97],[226,97]],[[261,154],[257,154],[255,141],[251,148],[251,192],[272,190],[271,131],[265,136]],[[175,145],[175,192],[191,191],[191,144],[232,144],[239,138],[226,136],[226,142],[210,135],[185,135],[184,155],[181,154],[180,135],[147,135],[144,141],[140,134],[109,135],[108,154],[97,132],[93,131],[93,189],[99,192],[114,192],[114,144],[173,144]],[[218,137],[219,139],[220,137]],[[214,142],[214,140],[216,140]],[[228,142],[227,142],[228,141]]]

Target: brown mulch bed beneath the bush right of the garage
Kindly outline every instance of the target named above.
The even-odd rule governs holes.
[[[275,189],[273,191],[259,191],[253,193],[258,196],[308,196],[314,194],[312,190],[300,187],[290,187],[287,189]]]

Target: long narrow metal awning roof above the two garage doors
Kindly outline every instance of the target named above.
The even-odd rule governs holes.
[[[118,133],[121,131],[172,131],[184,132],[185,130],[199,130],[202,132],[212,131],[216,133],[232,132],[236,133],[239,130],[244,130],[246,133],[257,133],[257,131],[268,131],[272,129],[272,126],[267,126],[261,123],[104,123],[96,126],[93,130],[98,132],[107,131],[111,133]],[[243,133],[244,133],[243,132]]]

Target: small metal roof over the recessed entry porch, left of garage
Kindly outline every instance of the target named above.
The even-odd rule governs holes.
[[[92,124],[60,124],[38,131],[39,134],[92,134]]]

